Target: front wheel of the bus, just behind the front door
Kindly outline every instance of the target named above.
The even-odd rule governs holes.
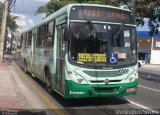
[[[47,92],[49,92],[49,93],[52,93],[52,88],[51,88],[51,76],[50,76],[50,72],[49,72],[49,70],[47,70],[46,72],[45,72],[45,79],[46,79],[46,90],[47,90]]]

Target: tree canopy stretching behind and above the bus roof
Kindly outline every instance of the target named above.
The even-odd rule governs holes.
[[[45,13],[46,16],[57,11],[69,3],[97,3],[112,6],[126,6],[136,17],[137,26],[144,25],[144,18],[149,18],[149,35],[158,34],[160,23],[160,0],[51,0],[40,6],[36,13]]]

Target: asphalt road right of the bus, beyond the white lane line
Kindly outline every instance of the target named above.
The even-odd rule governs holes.
[[[160,110],[160,73],[151,68],[139,68],[137,94],[126,99],[142,108]]]

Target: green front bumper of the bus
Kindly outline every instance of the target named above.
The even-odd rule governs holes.
[[[73,81],[65,82],[65,98],[88,98],[135,95],[138,79],[132,83],[107,84],[107,85],[83,85]]]

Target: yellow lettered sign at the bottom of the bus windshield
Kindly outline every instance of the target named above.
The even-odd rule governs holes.
[[[79,62],[101,62],[107,61],[106,54],[96,54],[96,53],[78,53]]]

